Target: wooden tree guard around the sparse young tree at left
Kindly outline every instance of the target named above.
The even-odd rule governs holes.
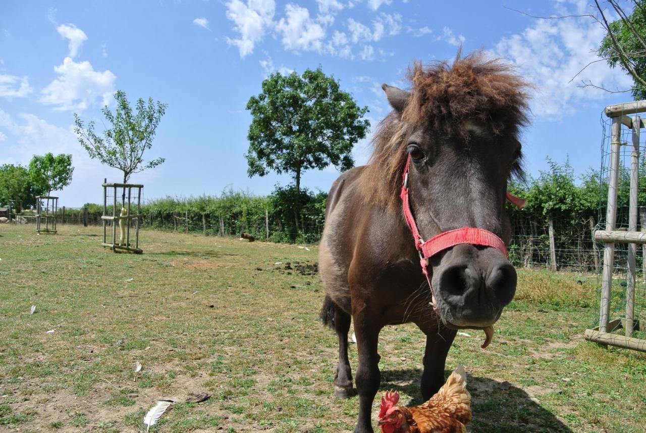
[[[141,189],[143,185],[135,184],[108,184],[103,180],[103,216],[101,220],[103,221],[103,242],[101,246],[112,249],[114,253],[124,252],[124,253],[143,253],[143,249],[139,248],[139,222],[143,215],[141,214]],[[132,209],[135,205],[132,203],[132,190],[136,189],[136,211],[132,213]],[[117,192],[121,191],[121,207],[117,211]],[[112,215],[108,215],[108,192],[112,191]],[[121,213],[121,209],[125,209],[125,213]],[[107,227],[108,222],[112,222],[112,243],[108,242],[108,233]],[[130,226],[134,224],[134,244],[130,242]],[[120,236],[117,238],[117,226],[120,226]],[[121,237],[121,227],[123,227],[125,233],[123,233],[123,240]]]

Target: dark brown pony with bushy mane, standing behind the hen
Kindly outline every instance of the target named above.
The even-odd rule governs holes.
[[[382,86],[393,111],[379,125],[370,163],[332,185],[320,244],[326,287],[321,318],[339,337],[339,397],[353,395],[351,319],[357,335],[355,432],[373,431],[381,328],[414,322],[426,334],[421,390],[428,399],[444,382],[457,330],[490,328],[516,291],[516,271],[501,251],[459,244],[430,259],[430,304],[399,193],[410,157],[410,208],[424,239],[478,227],[508,244],[505,195],[510,176],[522,175],[518,134],[527,121],[525,81],[481,52],[458,54],[452,65],[414,63],[408,75],[410,92]]]

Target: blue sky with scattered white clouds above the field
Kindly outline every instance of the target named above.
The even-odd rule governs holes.
[[[587,1],[195,0],[0,2],[0,164],[28,164],[33,154],[71,153],[74,178],[60,206],[100,202],[103,178],[120,172],[90,160],[72,131],[72,113],[94,120],[124,90],[131,101],[169,104],[149,158],[135,174],[145,198],[217,195],[227,186],[271,192],[289,176],[248,178],[245,103],[278,70],[320,65],[367,105],[373,127],[388,112],[381,83],[406,87],[413,59],[451,59],[483,48],[516,64],[534,83],[532,125],[523,132],[526,169],[546,156],[569,156],[577,173],[598,168],[603,107],[630,100],[609,89],[631,80],[596,60],[603,31],[588,18],[536,19],[592,12]],[[357,164],[369,138],[355,147]],[[334,167],[308,171],[302,184],[327,190]]]

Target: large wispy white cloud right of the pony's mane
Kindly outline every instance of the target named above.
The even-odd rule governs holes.
[[[579,13],[585,5],[578,2],[576,8]],[[559,11],[559,15],[568,13],[572,12]],[[592,63],[572,80],[585,65],[599,59],[595,50],[603,36],[603,28],[588,19],[536,19],[520,34],[501,39],[490,54],[509,59],[519,68],[521,76],[536,87],[532,112],[550,118],[607,98],[603,90],[581,88],[582,80],[606,89],[630,88],[632,80],[619,69],[610,69],[605,61]]]

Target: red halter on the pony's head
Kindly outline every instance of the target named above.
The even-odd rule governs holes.
[[[505,257],[507,256],[507,248],[505,246],[505,242],[503,242],[501,238],[495,235],[495,233],[477,227],[462,227],[455,230],[444,231],[443,233],[435,235],[424,242],[419,234],[417,224],[415,224],[415,217],[413,217],[413,213],[410,209],[410,201],[408,197],[409,169],[410,155],[406,160],[406,167],[402,174],[402,189],[399,196],[402,199],[402,209],[404,211],[406,224],[408,224],[408,228],[410,228],[410,231],[413,234],[415,249],[417,249],[417,252],[419,253],[419,262],[422,266],[422,273],[428,281],[428,287],[431,289],[431,293],[433,293],[433,286],[431,285],[431,279],[428,274],[428,259],[433,257],[433,255],[444,251],[444,249],[452,248],[459,244],[471,244],[492,247],[503,253]],[[518,207],[525,206],[525,200],[523,198],[518,198],[510,193],[507,193],[506,197],[510,202]]]

